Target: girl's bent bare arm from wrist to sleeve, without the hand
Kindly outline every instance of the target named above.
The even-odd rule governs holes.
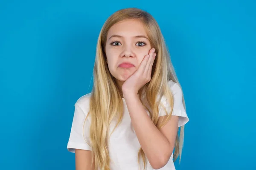
[[[172,116],[160,130],[148,117],[138,95],[124,96],[131,123],[149,163],[154,169],[164,167],[172,155],[178,129],[178,116]],[[159,122],[166,116],[160,116]]]

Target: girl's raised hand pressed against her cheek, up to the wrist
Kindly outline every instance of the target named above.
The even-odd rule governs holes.
[[[151,80],[152,65],[157,55],[154,51],[155,49],[151,48],[149,54],[145,55],[140,63],[139,69],[124,82],[122,85],[123,96],[130,94],[137,95],[140,88]]]

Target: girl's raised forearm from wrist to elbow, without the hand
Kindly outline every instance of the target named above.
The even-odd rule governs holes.
[[[168,139],[148,117],[138,95],[124,96],[131,123],[150,164],[163,164],[171,156]],[[157,165],[156,165],[157,166]]]

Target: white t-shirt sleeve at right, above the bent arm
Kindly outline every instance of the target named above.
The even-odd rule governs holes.
[[[189,122],[189,118],[186,114],[185,108],[182,103],[183,93],[180,86],[177,83],[174,83],[174,84],[169,83],[169,85],[174,98],[172,115],[179,116],[178,127],[180,127],[185,125],[187,122]],[[171,106],[169,105],[169,102],[167,102],[166,97],[162,97],[161,103],[166,108],[167,113],[170,113]],[[166,116],[165,110],[161,107],[159,109],[159,116]]]

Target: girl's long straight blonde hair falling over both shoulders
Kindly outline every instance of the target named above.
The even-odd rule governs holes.
[[[172,113],[173,95],[169,89],[168,82],[169,80],[172,80],[173,82],[176,82],[178,85],[180,85],[170,59],[166,42],[156,20],[151,16],[151,14],[138,8],[125,8],[112,14],[106,20],[99,33],[96,47],[96,58],[93,69],[93,90],[90,96],[90,109],[87,115],[87,118],[90,115],[91,119],[90,144],[92,147],[95,169],[100,168],[102,170],[110,170],[108,139],[111,134],[109,133],[109,127],[113,119],[116,119],[117,123],[113,129],[115,130],[115,128],[122,120],[124,108],[121,91],[119,91],[115,79],[111,75],[108,69],[108,65],[105,61],[105,45],[107,41],[108,30],[111,28],[111,26],[113,26],[115,23],[118,23],[119,21],[126,19],[140,20],[145,26],[151,47],[156,49],[157,56],[155,58],[154,65],[152,66],[151,81],[140,89],[139,96],[140,99],[145,97],[148,107],[151,108],[151,110],[141,100],[143,106],[150,113],[150,118],[158,129],[166,124],[166,122],[171,118],[172,114],[169,114],[165,121],[160,122],[160,124],[157,125],[159,106],[162,105],[162,103],[157,100],[157,95],[166,96],[167,101],[169,101],[171,106],[170,113]],[[150,91],[150,93],[145,93],[145,96],[143,96],[144,91]],[[183,106],[186,110],[184,97]],[[178,134],[179,131],[180,134]],[[175,141],[174,161],[178,156],[181,157],[184,126],[178,130],[178,133]],[[146,157],[142,148],[140,148],[138,152],[138,163],[140,163],[141,158],[143,159],[145,169]]]

